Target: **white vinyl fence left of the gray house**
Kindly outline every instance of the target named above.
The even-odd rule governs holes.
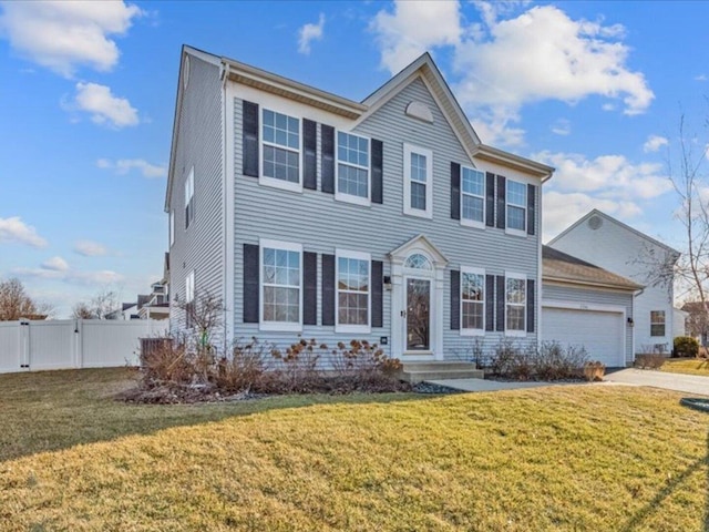
[[[140,338],[167,332],[167,320],[0,321],[0,374],[137,366]]]

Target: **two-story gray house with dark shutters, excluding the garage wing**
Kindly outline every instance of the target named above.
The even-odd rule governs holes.
[[[552,172],[482,144],[428,53],[356,102],[184,47],[171,329],[209,293],[219,349],[366,339],[408,361],[535,345]]]

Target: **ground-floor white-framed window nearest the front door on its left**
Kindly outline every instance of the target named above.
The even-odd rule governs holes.
[[[337,332],[370,332],[371,256],[336,252]]]

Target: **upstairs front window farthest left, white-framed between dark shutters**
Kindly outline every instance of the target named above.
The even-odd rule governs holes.
[[[300,119],[264,109],[260,183],[300,192]]]

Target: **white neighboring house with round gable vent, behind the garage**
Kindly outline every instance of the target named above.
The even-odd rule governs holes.
[[[674,283],[654,285],[654,280],[658,269],[675,265],[679,252],[597,209],[548,245],[645,286],[635,298],[635,352],[671,351]]]

